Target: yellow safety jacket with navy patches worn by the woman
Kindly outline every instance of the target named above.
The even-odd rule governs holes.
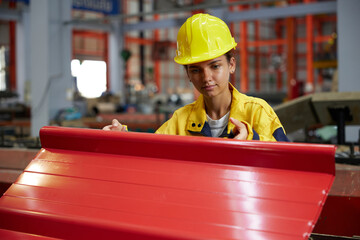
[[[289,141],[285,130],[271,106],[264,100],[239,93],[230,83],[232,102],[230,117],[243,122],[248,129],[247,140]],[[229,119],[230,119],[229,117]],[[204,97],[179,108],[155,133],[185,136],[211,136],[206,121]],[[233,138],[235,125],[229,120],[220,137]]]

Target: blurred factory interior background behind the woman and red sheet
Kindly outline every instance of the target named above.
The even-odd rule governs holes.
[[[152,134],[194,102],[177,33],[209,13],[237,43],[230,83],[269,103],[290,142],[336,146],[309,239],[360,239],[359,12],[358,0],[0,0],[0,195],[42,148],[44,126],[118,119]]]

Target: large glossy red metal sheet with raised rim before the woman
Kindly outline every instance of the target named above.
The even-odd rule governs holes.
[[[332,145],[45,127],[0,228],[66,239],[307,239]],[[2,233],[0,232],[0,237]]]

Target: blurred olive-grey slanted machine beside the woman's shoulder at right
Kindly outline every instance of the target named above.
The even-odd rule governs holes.
[[[338,146],[337,162],[360,164],[358,141],[345,141],[345,127],[360,125],[360,92],[323,92],[306,95],[274,107],[288,135],[295,133],[293,141],[334,143]],[[333,127],[328,127],[333,126]],[[327,129],[321,129],[328,127]],[[321,131],[335,139],[323,137]],[[302,131],[303,136],[296,138],[296,131]],[[326,133],[324,133],[326,134]],[[343,151],[345,150],[345,151]]]

